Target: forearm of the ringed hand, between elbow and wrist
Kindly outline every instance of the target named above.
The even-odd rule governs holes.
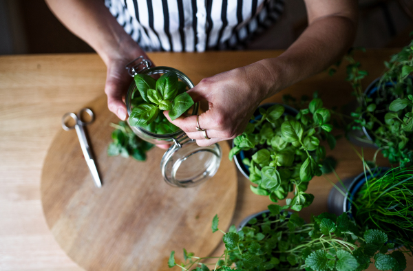
[[[312,23],[281,56],[261,61],[272,75],[265,98],[335,63],[352,45],[355,32],[355,23],[346,17]]]

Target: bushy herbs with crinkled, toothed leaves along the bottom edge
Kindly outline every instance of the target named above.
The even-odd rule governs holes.
[[[168,265],[182,270],[277,270],[277,271],[355,271],[366,270],[370,259],[379,270],[401,271],[406,268],[403,252],[388,252],[392,243],[381,230],[360,232],[346,214],[339,217],[323,213],[305,224],[297,213],[288,217],[280,206],[249,219],[239,231],[218,228],[218,217],[212,231],[224,234],[224,253],[220,257],[196,257],[184,250],[184,263],[177,264],[171,252]],[[357,242],[357,243],[356,243]],[[213,259],[213,263],[201,263]]]

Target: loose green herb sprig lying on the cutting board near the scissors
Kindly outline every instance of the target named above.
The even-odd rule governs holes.
[[[112,132],[114,142],[109,144],[107,155],[122,155],[125,158],[131,156],[135,160],[145,161],[146,152],[153,147],[153,144],[138,138],[124,121],[120,121],[119,124],[111,123],[110,125],[116,130]]]

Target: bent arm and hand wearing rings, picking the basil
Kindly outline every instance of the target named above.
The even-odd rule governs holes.
[[[265,98],[316,74],[348,50],[357,28],[357,1],[306,0],[308,28],[286,52],[251,65],[203,79],[188,93],[207,100],[209,110],[199,117],[211,140],[196,131],[196,116],[173,121],[200,146],[235,138],[244,131]],[[167,114],[166,114],[167,116]]]

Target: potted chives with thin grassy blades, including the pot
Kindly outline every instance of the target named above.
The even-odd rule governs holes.
[[[413,168],[377,168],[340,181],[328,197],[328,210],[346,213],[364,228],[385,232],[396,246],[413,247]]]

